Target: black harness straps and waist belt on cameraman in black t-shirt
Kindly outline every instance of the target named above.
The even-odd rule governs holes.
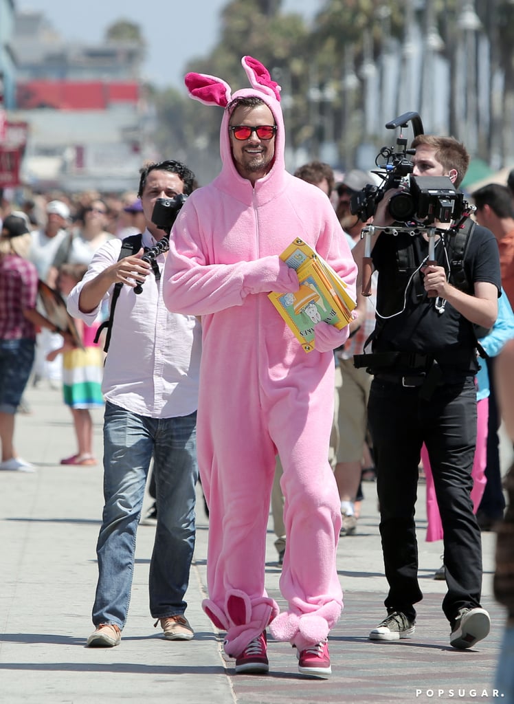
[[[472,220],[469,215],[465,215],[461,218],[449,231],[451,233],[451,245],[446,250],[447,253],[449,253],[448,280],[453,286],[460,289],[460,291],[465,291],[465,293],[469,293],[470,291],[470,282],[465,272],[464,261],[472,234],[475,231],[475,225],[475,221]],[[401,249],[396,253],[396,273],[399,284],[400,282],[404,282],[404,278],[401,277],[401,272],[406,272],[409,268],[413,268],[414,264],[413,253],[410,248]],[[370,341],[377,339],[380,335],[380,326],[377,326],[377,328],[375,328],[372,334],[370,334],[370,337],[365,341],[364,348],[368,346]],[[483,335],[487,334],[489,331],[476,325],[473,325],[473,330],[475,332],[477,351],[480,356],[486,357],[487,354],[479,344],[477,337],[483,337]],[[353,363],[356,368],[367,367],[370,374],[374,374],[379,370],[394,372],[394,370],[400,368],[412,370],[424,368],[425,372],[422,372],[422,375],[426,375],[426,377],[425,382],[420,386],[420,396],[427,399],[432,396],[435,386],[442,380],[441,368],[437,363],[437,359],[432,355],[394,351],[364,353],[355,355],[353,357]]]

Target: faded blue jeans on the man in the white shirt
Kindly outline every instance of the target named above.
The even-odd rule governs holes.
[[[159,619],[183,614],[194,551],[196,411],[149,418],[106,403],[104,514],[96,545],[99,580],[93,623],[123,629],[130,604],[136,531],[153,456],[157,525],[150,562],[150,612]]]

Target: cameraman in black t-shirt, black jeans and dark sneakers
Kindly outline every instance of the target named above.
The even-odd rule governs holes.
[[[420,134],[412,147],[413,176],[448,176],[456,187],[462,182],[469,155],[456,139]],[[380,201],[376,226],[392,225],[388,203],[394,192],[387,191]],[[368,417],[389,583],[387,617],[370,639],[393,641],[414,633],[413,605],[422,599],[414,514],[425,442],[444,528],[448,592],[442,607],[451,626],[451,646],[470,648],[490,627],[489,614],[480,606],[482,546],[470,499],[478,369],[472,323],[493,325],[501,282],[494,236],[477,225],[461,270],[469,292],[453,284],[454,224],[434,222],[436,263],[430,264],[425,230],[396,236],[379,232],[371,250],[378,272],[377,322],[372,353],[358,364],[374,373]],[[361,265],[363,241],[353,253]]]

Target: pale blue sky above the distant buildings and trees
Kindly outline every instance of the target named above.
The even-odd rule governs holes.
[[[43,11],[54,28],[73,42],[100,42],[108,25],[127,19],[139,24],[149,46],[144,77],[159,87],[182,87],[184,64],[206,54],[218,40],[218,18],[227,0],[15,0],[17,10]],[[322,0],[282,0],[284,11],[311,18]],[[242,55],[244,50],[242,51]]]

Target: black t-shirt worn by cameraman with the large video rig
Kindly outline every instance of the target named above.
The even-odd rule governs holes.
[[[477,370],[476,337],[472,324],[446,301],[428,298],[420,268],[429,246],[422,234],[382,232],[372,250],[379,272],[377,324],[372,350],[432,354],[441,363],[459,370]],[[452,234],[437,239],[434,258],[447,275],[452,257]],[[485,227],[475,225],[465,252],[464,270],[470,294],[476,282],[489,282],[501,291],[498,245]],[[451,282],[451,278],[450,278]],[[382,316],[382,317],[381,317]],[[384,320],[385,318],[385,320]]]

